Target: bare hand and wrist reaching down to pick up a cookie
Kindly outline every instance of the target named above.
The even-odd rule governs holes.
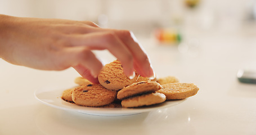
[[[0,57],[41,70],[73,67],[97,83],[102,63],[92,50],[109,50],[121,61],[127,77],[134,69],[154,78],[149,57],[131,31],[103,29],[91,21],[36,19],[0,15]]]

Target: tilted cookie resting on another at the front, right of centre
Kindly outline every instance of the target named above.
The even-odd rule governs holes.
[[[157,82],[138,82],[133,83],[131,86],[127,86],[118,92],[117,98],[123,100],[124,98],[141,95],[143,93],[152,93],[158,91],[162,87]]]

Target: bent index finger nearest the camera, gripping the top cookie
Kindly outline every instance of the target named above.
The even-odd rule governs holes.
[[[118,60],[122,62],[124,73],[132,78],[134,74],[133,56],[125,44],[115,33],[109,31],[89,33],[73,37],[74,46],[86,46],[89,50],[109,50]]]

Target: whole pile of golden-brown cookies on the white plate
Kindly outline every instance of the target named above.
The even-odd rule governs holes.
[[[92,84],[78,77],[75,83],[79,86],[65,90],[62,99],[89,107],[141,107],[184,99],[196,95],[199,90],[195,84],[179,83],[176,77],[150,80],[136,73],[129,79],[118,60],[102,68],[98,81],[100,84]]]

